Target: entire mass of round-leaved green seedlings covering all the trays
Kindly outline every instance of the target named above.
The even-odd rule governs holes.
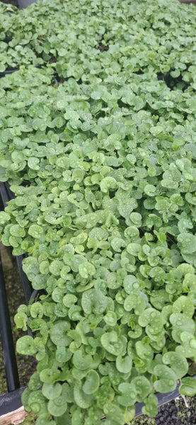
[[[37,425],[123,425],[135,402],[155,416],[154,393],[196,361],[196,13],[177,0],[168,13],[162,1],[53,3],[16,16],[18,33],[36,22],[30,49],[57,62],[0,80],[0,179],[16,194],[1,239],[28,252],[41,294],[16,314],[35,334],[17,349],[38,360],[23,404]],[[169,70],[190,85],[158,81]],[[194,395],[195,380],[180,391]]]

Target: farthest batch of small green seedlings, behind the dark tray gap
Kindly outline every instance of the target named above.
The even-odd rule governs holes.
[[[167,74],[195,88],[195,6],[174,1],[40,0],[0,5],[0,72],[51,62],[60,78],[91,81],[122,70]],[[174,79],[174,81],[173,81]]]

